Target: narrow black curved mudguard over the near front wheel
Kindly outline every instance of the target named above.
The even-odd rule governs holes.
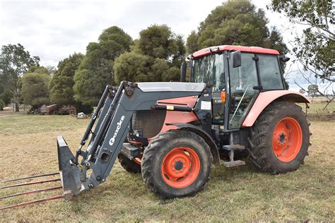
[[[214,142],[213,138],[211,138],[211,135],[208,135],[206,131],[194,125],[188,124],[188,123],[170,123],[168,125],[172,125],[172,126],[176,126],[177,128],[192,131],[196,133],[197,135],[200,135],[201,138],[204,138],[206,143],[211,148],[211,154],[213,155],[213,164],[218,165],[218,166],[220,165],[220,156],[218,155],[218,147],[216,146],[216,143]]]

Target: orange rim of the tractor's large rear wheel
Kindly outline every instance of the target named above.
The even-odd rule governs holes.
[[[274,128],[272,149],[281,162],[290,162],[297,157],[302,145],[302,130],[297,120],[286,117]]]

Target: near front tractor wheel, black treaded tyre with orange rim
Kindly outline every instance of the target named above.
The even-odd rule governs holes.
[[[146,186],[160,197],[180,198],[204,188],[213,156],[203,138],[181,129],[160,133],[143,152],[141,167]]]

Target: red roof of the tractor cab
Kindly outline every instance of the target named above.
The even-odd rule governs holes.
[[[196,59],[201,56],[212,54],[213,52],[221,52],[224,50],[228,50],[228,51],[240,50],[241,52],[249,52],[249,53],[255,53],[255,54],[274,54],[274,55],[279,54],[279,52],[276,51],[276,49],[266,49],[263,47],[242,47],[242,46],[221,45],[221,46],[216,46],[216,47],[207,47],[205,49],[200,49],[199,51],[194,52],[194,54],[192,54],[192,58]]]

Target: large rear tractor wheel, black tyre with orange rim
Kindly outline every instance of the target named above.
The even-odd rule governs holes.
[[[273,102],[257,118],[249,135],[249,159],[261,171],[282,174],[304,163],[310,123],[293,102]]]

